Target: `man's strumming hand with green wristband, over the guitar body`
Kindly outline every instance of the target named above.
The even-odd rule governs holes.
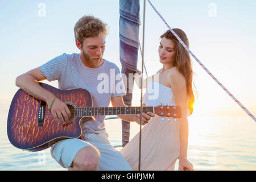
[[[54,97],[47,101],[48,108],[51,106]],[[69,121],[71,116],[71,111],[68,109],[68,106],[61,101],[59,98],[55,98],[51,107],[51,113],[55,121],[60,121],[65,124]]]

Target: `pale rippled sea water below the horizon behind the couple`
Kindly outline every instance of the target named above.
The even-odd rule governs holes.
[[[189,117],[188,160],[195,170],[256,170],[256,122],[250,117]],[[6,121],[2,121],[6,123]],[[121,119],[105,121],[110,142],[122,144]],[[139,132],[131,123],[130,138]],[[143,136],[142,136],[143,137]],[[117,148],[120,150],[121,148]],[[179,160],[175,165],[178,169]],[[22,151],[0,127],[0,170],[67,170],[51,157],[50,148]]]

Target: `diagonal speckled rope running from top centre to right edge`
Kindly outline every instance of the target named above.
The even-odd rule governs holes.
[[[169,28],[169,30],[172,32],[172,34],[174,34],[174,36],[177,38],[177,40],[179,40],[179,42],[181,43],[181,45],[193,56],[193,58],[197,61],[197,63],[200,64],[200,66],[204,69],[204,71],[206,71],[206,72],[208,73],[208,75],[209,75],[210,77],[212,77],[213,80],[216,81],[217,84],[220,85],[221,88],[222,88],[223,90],[225,90],[225,92],[228,93],[228,95],[229,95],[231,98],[233,98],[233,100],[234,100],[238,105],[240,105],[240,107],[241,107],[251,118],[253,118],[253,120],[256,122],[256,118],[254,117],[254,115],[251,114],[250,111],[247,110],[247,109],[245,108],[245,106],[243,106],[243,105],[241,104],[241,102],[238,101],[237,98],[234,97],[233,94],[231,94],[231,93],[229,92],[229,90],[226,89],[225,86],[222,85],[221,82],[218,81],[217,78],[212,75],[212,73],[210,73],[210,71],[203,65],[203,63],[201,63],[201,61],[200,61],[199,59],[197,59],[197,57],[196,57],[196,56],[190,51],[190,49],[184,44],[184,42],[179,38],[179,36],[175,33],[175,31],[172,30],[172,28],[167,24],[166,20],[164,20],[163,16],[160,15],[160,13],[158,12],[158,10],[155,9],[155,7],[152,5],[152,3],[150,2],[150,0],[147,0],[147,1],[148,1],[148,3],[150,3],[150,5],[151,5],[152,8],[154,9],[155,13],[158,14],[159,17],[163,20],[163,22],[166,24],[166,26]]]

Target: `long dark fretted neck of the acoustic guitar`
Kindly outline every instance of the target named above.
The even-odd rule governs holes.
[[[154,107],[143,107],[143,113],[154,113]],[[76,107],[75,116],[126,115],[140,114],[141,107]]]

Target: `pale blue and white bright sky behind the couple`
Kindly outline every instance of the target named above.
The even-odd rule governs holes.
[[[256,115],[256,1],[151,0],[172,28],[181,28],[189,48],[209,71]],[[146,2],[144,63],[148,76],[160,68],[159,36],[168,28]],[[73,27],[92,14],[109,26],[104,58],[119,68],[118,0],[0,0],[0,118],[5,120],[18,90],[15,78],[65,53],[79,52]],[[142,26],[140,28],[142,42]],[[197,96],[196,115],[240,115],[245,111],[192,58]],[[141,56],[138,59],[141,70]],[[48,84],[57,86],[57,82]],[[133,105],[140,91],[134,88]],[[251,120],[253,122],[253,120]],[[6,122],[6,121],[5,121]]]

